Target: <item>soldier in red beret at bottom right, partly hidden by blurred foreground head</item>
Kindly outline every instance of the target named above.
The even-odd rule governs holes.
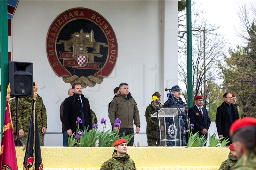
[[[229,170],[235,165],[237,161],[234,144],[231,144],[229,149],[230,152],[228,154],[228,159],[221,163],[219,170]]]

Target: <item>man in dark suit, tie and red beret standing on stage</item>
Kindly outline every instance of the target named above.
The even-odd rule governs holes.
[[[207,109],[202,107],[203,96],[196,96],[194,102],[195,106],[188,109],[188,118],[190,119],[190,123],[194,124],[194,129],[192,129],[192,133],[199,132],[199,136],[204,135],[204,137],[207,138],[207,131],[210,127],[211,120],[208,115]]]

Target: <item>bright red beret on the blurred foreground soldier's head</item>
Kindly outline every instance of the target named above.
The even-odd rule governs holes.
[[[252,117],[245,117],[243,119],[236,120],[230,127],[230,136],[232,136],[238,129],[246,126],[256,127],[256,119]]]

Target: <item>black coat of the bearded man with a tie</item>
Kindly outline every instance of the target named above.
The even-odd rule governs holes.
[[[85,127],[89,125],[88,130],[92,127],[92,115],[90,110],[89,100],[81,94],[83,107],[84,107],[84,119]],[[64,100],[64,109],[63,109],[63,118],[65,128],[71,129],[72,133],[76,131],[76,120],[77,117],[82,119],[82,111],[80,110],[80,101],[78,100],[78,95],[74,93],[73,96],[70,96]],[[79,129],[82,128],[82,123],[79,123]]]

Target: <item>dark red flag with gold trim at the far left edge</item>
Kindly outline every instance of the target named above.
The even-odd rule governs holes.
[[[18,170],[9,106],[9,102],[6,100],[0,167],[1,169]]]

